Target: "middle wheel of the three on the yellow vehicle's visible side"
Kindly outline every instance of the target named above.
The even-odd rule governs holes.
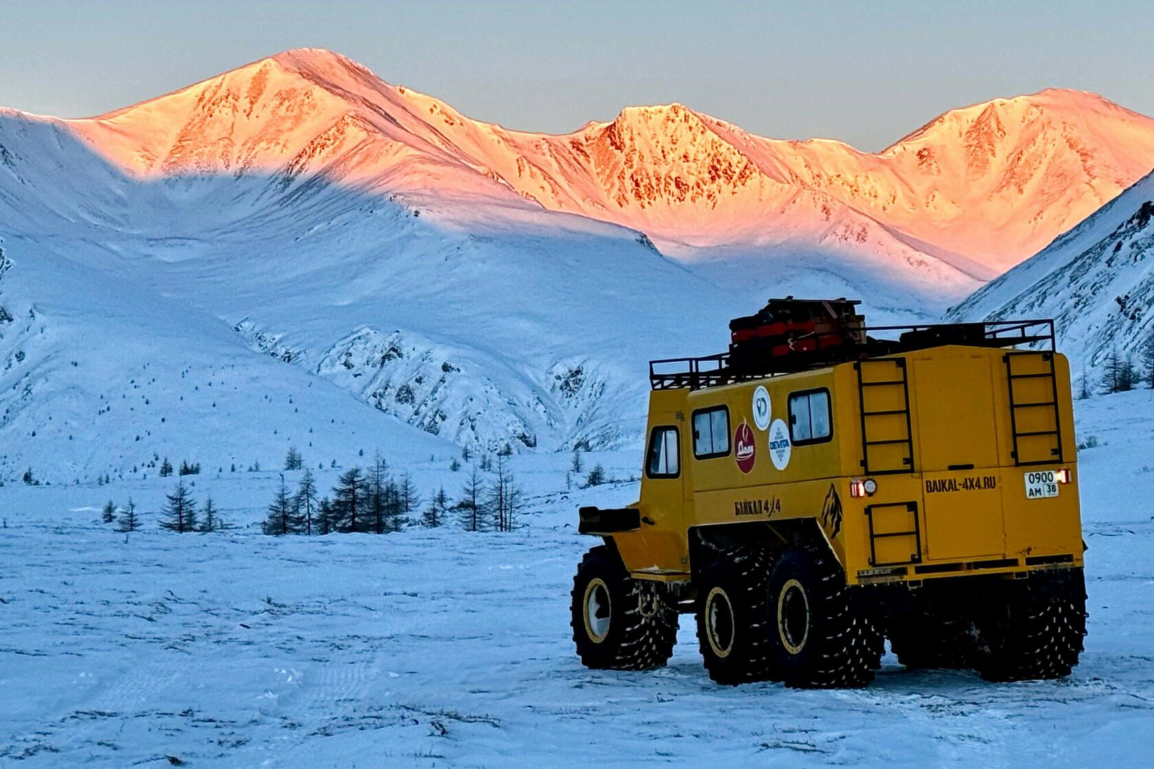
[[[697,641],[705,670],[718,684],[770,678],[765,587],[771,565],[765,548],[732,548],[698,579]]]

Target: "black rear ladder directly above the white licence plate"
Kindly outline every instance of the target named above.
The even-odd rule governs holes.
[[[1006,364],[1010,395],[1010,433],[1014,465],[1050,465],[1063,461],[1062,419],[1054,353],[1013,352]],[[1017,365],[1016,362],[1017,361]],[[1029,394],[1022,392],[1029,391]]]

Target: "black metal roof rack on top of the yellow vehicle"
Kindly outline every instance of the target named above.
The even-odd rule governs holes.
[[[792,301],[792,297],[773,301]],[[834,300],[837,301],[845,300]],[[824,330],[793,330],[755,339],[747,336],[741,341],[730,344],[728,353],[650,361],[650,385],[653,390],[719,387],[944,345],[1026,345],[1035,349],[1054,350],[1054,321],[1049,319],[890,326],[865,326],[849,316],[842,316],[841,319],[846,323],[827,324],[829,327]]]

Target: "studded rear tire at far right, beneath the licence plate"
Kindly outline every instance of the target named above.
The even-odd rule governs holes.
[[[990,681],[1063,678],[1078,664],[1086,635],[1080,568],[1032,574],[988,600],[980,612],[974,668]]]

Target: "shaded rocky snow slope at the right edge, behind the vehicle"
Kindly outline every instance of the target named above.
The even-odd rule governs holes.
[[[1115,350],[1139,364],[1154,338],[1154,173],[947,317],[1052,317],[1091,371]]]

